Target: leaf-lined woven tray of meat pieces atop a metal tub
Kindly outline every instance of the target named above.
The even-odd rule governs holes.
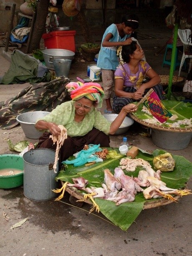
[[[167,150],[180,150],[188,146],[192,138],[192,104],[182,101],[162,101],[172,114],[166,122],[160,123],[143,104],[130,116],[136,122],[151,128],[154,144]]]

